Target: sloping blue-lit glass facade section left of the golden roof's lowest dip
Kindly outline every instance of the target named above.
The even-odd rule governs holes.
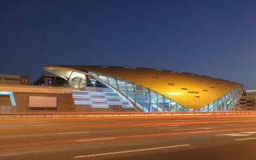
[[[131,101],[135,102],[135,104],[145,112],[170,112],[189,110],[177,102],[174,102],[173,100],[160,95],[156,91],[152,91],[151,89],[137,85],[131,81],[110,75],[104,75],[102,73],[88,73],[119,89],[119,91],[127,95]]]

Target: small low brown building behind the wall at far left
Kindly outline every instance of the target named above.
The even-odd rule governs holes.
[[[0,84],[6,85],[28,85],[28,76],[26,75],[1,75]]]

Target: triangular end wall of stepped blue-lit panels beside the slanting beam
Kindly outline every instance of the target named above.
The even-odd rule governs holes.
[[[70,85],[73,85],[72,87],[74,88],[79,86],[79,83],[76,83],[77,79],[81,78],[75,77],[70,81]],[[84,89],[79,87],[79,90],[72,91],[74,104],[79,106],[76,107],[79,110],[86,108],[85,106],[90,106],[91,108],[109,108],[110,106],[133,108],[133,104],[125,96],[121,95],[113,87],[102,83],[102,81],[86,76],[86,83],[83,84]]]

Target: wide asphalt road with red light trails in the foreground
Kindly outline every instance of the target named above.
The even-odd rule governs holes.
[[[256,159],[255,116],[0,120],[0,159]]]

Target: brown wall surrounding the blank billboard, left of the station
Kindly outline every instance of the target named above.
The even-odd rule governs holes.
[[[9,95],[3,95],[2,98],[0,97],[0,112],[45,112],[45,108],[37,108],[36,110],[29,107],[30,96],[57,97],[57,108],[46,108],[49,112],[67,112],[73,110],[73,97],[71,94],[71,88],[69,87],[0,84],[0,91],[13,92],[17,105],[16,107],[11,107]]]

